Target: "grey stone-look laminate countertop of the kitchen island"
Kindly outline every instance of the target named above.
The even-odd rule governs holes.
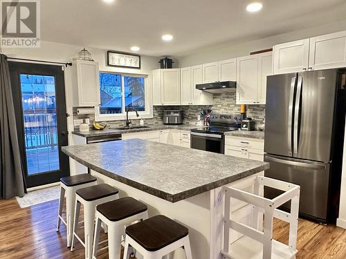
[[[147,140],[64,146],[93,171],[169,202],[178,202],[269,168],[266,162]]]

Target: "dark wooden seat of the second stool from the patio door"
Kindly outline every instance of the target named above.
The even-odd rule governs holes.
[[[93,200],[102,199],[110,195],[115,195],[118,192],[118,189],[110,186],[109,184],[97,184],[95,186],[78,189],[75,193],[80,195],[82,199],[91,202]]]

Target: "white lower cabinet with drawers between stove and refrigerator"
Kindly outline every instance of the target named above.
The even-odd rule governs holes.
[[[225,155],[263,161],[264,140],[226,136]]]

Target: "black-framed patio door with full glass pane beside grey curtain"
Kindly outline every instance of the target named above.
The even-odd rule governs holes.
[[[64,71],[61,66],[9,62],[18,142],[28,187],[69,175]]]

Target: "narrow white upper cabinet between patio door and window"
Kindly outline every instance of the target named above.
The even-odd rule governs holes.
[[[75,60],[73,73],[78,88],[75,106],[98,106],[100,104],[100,71],[98,62]]]

